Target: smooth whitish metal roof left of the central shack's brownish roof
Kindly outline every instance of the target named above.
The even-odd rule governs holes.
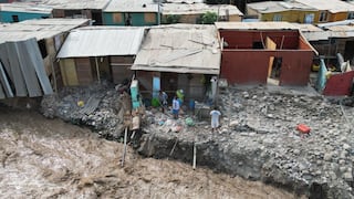
[[[140,46],[144,30],[112,27],[74,30],[66,38],[56,57],[134,55]]]

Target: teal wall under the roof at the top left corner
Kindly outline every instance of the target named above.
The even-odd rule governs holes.
[[[0,11],[0,22],[11,23],[13,22],[12,15],[18,15],[19,21],[30,20],[30,19],[41,19],[50,18],[49,13],[32,13],[32,12],[13,12],[13,11]]]

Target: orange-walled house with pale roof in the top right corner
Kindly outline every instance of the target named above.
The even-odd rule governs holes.
[[[308,7],[314,8],[317,12],[314,15],[314,23],[326,23],[354,19],[354,4],[341,0],[294,0]]]

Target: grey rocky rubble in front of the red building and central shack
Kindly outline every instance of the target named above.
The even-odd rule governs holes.
[[[223,117],[218,133],[211,133],[209,121],[192,127],[185,118],[154,123],[139,153],[192,163],[196,145],[200,166],[310,197],[354,196],[353,107],[287,87],[230,87],[221,92],[219,104]],[[181,130],[167,130],[176,123],[184,124]],[[311,134],[298,130],[300,124]]]

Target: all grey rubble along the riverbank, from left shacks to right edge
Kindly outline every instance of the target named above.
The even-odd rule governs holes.
[[[86,103],[91,96],[100,98],[97,108],[81,114],[83,107],[77,102]],[[105,84],[66,88],[45,97],[42,112],[119,140],[128,106],[122,97],[114,86]],[[144,134],[137,151],[192,163],[196,145],[197,166],[261,180],[298,195],[351,198],[354,108],[346,106],[350,104],[301,87],[228,87],[218,98],[222,113],[218,133],[211,133],[209,118],[200,117],[197,106],[195,115],[187,111],[179,119],[173,119],[168,111],[148,108],[142,118]],[[309,126],[311,134],[296,130],[299,124]]]

